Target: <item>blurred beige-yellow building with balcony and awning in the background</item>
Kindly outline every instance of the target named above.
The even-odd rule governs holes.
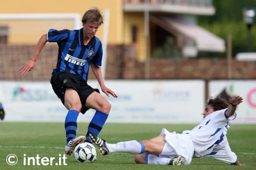
[[[152,55],[157,47],[164,45],[167,37],[174,40],[175,48],[184,56],[196,56],[197,51],[225,51],[224,40],[196,25],[196,16],[215,14],[212,0],[76,0],[75,3],[70,0],[8,0],[0,6],[0,31],[8,30],[8,44],[34,44],[49,28],[74,29],[74,19],[26,20],[4,16],[72,13],[81,18],[92,6],[110,10],[108,44],[135,44],[141,61],[146,58],[146,46]],[[145,22],[145,9],[150,12],[148,22]],[[148,37],[145,23],[149,26]],[[103,27],[97,33],[100,39]]]

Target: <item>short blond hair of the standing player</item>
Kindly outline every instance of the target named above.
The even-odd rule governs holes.
[[[82,23],[91,22],[94,24],[101,25],[103,24],[103,15],[99,8],[93,7],[90,10],[86,11],[82,17]]]

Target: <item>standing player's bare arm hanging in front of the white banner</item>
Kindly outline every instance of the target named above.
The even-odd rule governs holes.
[[[114,91],[108,89],[108,87],[105,86],[100,67],[97,67],[96,65],[92,64],[91,68],[96,79],[98,80],[98,83],[100,84],[100,88],[102,89],[103,93],[105,93],[108,97],[109,97],[109,94],[112,95],[113,97],[117,97]]]

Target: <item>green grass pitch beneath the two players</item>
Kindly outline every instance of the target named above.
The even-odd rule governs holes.
[[[77,135],[84,135],[87,123],[78,124]],[[108,142],[124,140],[143,140],[160,134],[165,127],[170,131],[182,132],[194,125],[152,125],[152,124],[106,124],[100,136]],[[64,154],[65,132],[62,123],[0,123],[0,166],[2,170],[22,169],[73,169],[84,170],[255,170],[256,167],[256,126],[231,125],[228,140],[240,162],[246,166],[232,166],[213,158],[193,159],[186,166],[154,166],[134,163],[132,154],[113,153],[107,156],[98,154],[93,163],[79,163],[73,156],[68,156],[67,166],[23,166],[23,154],[26,156],[58,157]],[[27,146],[27,147],[22,147]],[[42,147],[44,146],[44,147]],[[6,163],[8,154],[16,154],[18,163],[10,166]]]

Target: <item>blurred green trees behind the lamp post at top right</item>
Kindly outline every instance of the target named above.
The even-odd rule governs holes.
[[[198,17],[198,24],[224,40],[232,35],[232,53],[247,51],[247,28],[244,23],[243,8],[256,7],[256,0],[213,0],[216,8],[214,16]],[[252,40],[256,40],[256,26],[252,27]],[[252,42],[253,43],[253,42]],[[256,51],[256,46],[252,47]],[[200,53],[199,57],[225,57],[226,53]]]

